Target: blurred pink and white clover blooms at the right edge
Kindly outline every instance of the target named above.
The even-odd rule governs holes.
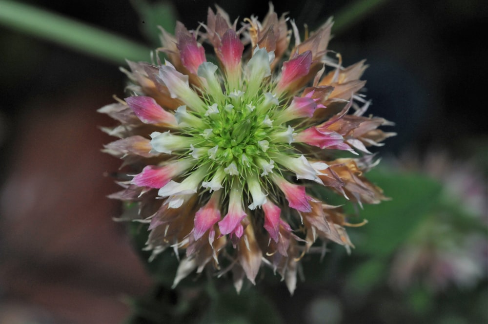
[[[421,282],[434,291],[453,284],[462,288],[476,285],[488,271],[488,240],[482,233],[488,225],[486,184],[474,164],[456,162],[445,152],[430,150],[423,161],[406,155],[402,161],[409,162],[407,168],[441,181],[442,199],[449,205],[433,211],[397,253],[391,284],[405,288]],[[460,212],[485,229],[459,228]]]

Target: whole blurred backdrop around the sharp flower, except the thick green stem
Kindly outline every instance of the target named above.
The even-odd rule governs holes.
[[[487,323],[484,1],[274,3],[310,31],[334,15],[329,49],[345,66],[366,58],[369,113],[395,122],[386,131],[398,133],[377,150],[383,161],[370,178],[393,199],[360,212],[369,224],[350,230],[352,255],[330,246],[322,262],[307,257],[293,297],[266,273],[240,296],[232,288],[205,302],[207,313],[194,307],[202,301],[191,282],[169,290],[173,265],[148,270],[138,240],[112,220],[122,207],[106,198],[118,190],[108,174],[120,161],[100,152],[112,138],[99,127],[113,121],[96,110],[124,95],[122,57],[150,60],[155,25],[170,29],[178,19],[197,28],[214,3],[231,19],[263,18],[268,4],[21,3],[142,51],[97,56],[0,21],[0,323]],[[0,13],[7,6],[0,1]]]

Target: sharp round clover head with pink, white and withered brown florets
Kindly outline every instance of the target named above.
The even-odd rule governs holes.
[[[352,247],[346,215],[313,188],[360,205],[385,199],[363,175],[371,156],[333,158],[369,154],[393,133],[378,129],[385,119],[363,116],[364,61],[345,68],[340,56],[327,57],[331,27],[329,19],[302,41],[272,5],[239,30],[221,8],[209,9],[199,31],[182,23],[175,36],[163,31],[163,62],[129,62],[131,95],[100,109],[120,122],[104,128],[120,138],[105,152],[132,176],[111,197],[137,202],[153,257],[186,251],[175,285],[208,268],[231,271],[239,290],[266,265],[293,293],[298,263],[318,239]]]

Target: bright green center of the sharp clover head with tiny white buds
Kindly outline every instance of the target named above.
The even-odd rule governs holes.
[[[242,88],[229,89],[216,67],[204,67],[206,70],[200,69],[199,74],[208,82],[201,97],[206,107],[185,111],[191,117],[183,117],[182,112],[181,117],[193,121],[183,132],[196,139],[189,152],[198,160],[193,170],[204,167],[204,182],[214,179],[213,184],[227,188],[237,176],[245,188],[249,177],[257,180],[273,172],[273,156],[291,151],[293,129],[273,122],[280,106],[279,98],[269,92],[273,82],[256,86],[242,76]]]

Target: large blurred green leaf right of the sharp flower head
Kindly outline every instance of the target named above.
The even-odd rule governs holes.
[[[359,293],[384,281],[389,257],[440,203],[442,189],[437,181],[413,173],[377,170],[367,177],[392,199],[360,211],[368,224],[358,229],[362,241],[355,242],[353,253],[367,256],[368,261],[352,272],[347,283],[347,289]]]

